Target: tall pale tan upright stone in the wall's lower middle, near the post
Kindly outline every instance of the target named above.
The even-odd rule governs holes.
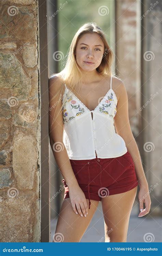
[[[13,138],[13,173],[18,189],[37,187],[38,150],[35,135],[16,131]]]

